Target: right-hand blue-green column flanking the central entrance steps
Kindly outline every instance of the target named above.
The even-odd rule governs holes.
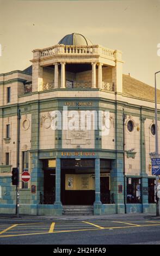
[[[95,159],[95,202],[94,214],[100,215],[102,203],[100,198],[100,159]]]

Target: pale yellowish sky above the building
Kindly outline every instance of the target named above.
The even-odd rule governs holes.
[[[160,70],[160,0],[1,0],[0,4],[0,74],[27,68],[33,49],[56,45],[75,32],[93,44],[121,50],[123,74],[154,86],[154,73]]]

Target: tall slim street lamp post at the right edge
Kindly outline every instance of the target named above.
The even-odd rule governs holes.
[[[156,85],[156,74],[160,73],[160,71],[155,72],[155,144],[156,144],[156,152],[155,154],[158,156],[158,125],[157,125],[157,85]],[[157,187],[158,187],[158,180],[159,176],[156,175],[156,194],[157,194]],[[160,198],[157,197],[157,204],[156,204],[156,216],[159,216],[159,200]]]

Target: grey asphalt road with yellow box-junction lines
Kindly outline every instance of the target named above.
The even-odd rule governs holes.
[[[159,220],[0,220],[1,245],[160,245]]]

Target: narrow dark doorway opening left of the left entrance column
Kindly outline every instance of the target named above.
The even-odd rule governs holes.
[[[55,169],[44,169],[44,204],[53,204],[56,197]]]

